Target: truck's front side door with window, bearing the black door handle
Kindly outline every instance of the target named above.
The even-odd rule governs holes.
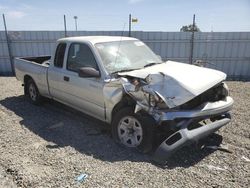
[[[61,100],[91,116],[105,120],[103,81],[101,77],[79,77],[82,67],[99,70],[94,53],[88,44],[71,43],[61,72]]]

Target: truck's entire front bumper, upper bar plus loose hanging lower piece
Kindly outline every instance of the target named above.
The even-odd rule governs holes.
[[[232,106],[233,99],[231,97],[227,97],[224,101],[213,103],[209,102],[192,111],[162,113],[160,116],[160,122],[175,119],[183,119],[183,121],[178,124],[180,129],[170,135],[156,149],[153,160],[158,164],[164,165],[166,164],[167,159],[178,149],[189,145],[190,143],[197,142],[228,124],[231,120],[231,116],[228,111],[232,108]],[[189,125],[193,123],[194,119],[202,120],[215,116],[218,119],[212,123],[194,129],[189,128]]]

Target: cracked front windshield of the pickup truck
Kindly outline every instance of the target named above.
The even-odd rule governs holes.
[[[149,47],[138,40],[105,42],[95,46],[108,73],[140,69],[161,62]]]

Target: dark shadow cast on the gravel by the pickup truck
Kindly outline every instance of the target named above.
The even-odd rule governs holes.
[[[20,125],[49,142],[48,149],[71,146],[77,151],[103,161],[151,162],[150,155],[123,148],[114,143],[110,127],[58,102],[46,100],[41,106],[34,106],[24,96],[9,97],[0,104],[20,116]],[[219,145],[222,137],[213,134],[206,144]],[[168,167],[188,168],[214,150],[185,147],[168,160]]]

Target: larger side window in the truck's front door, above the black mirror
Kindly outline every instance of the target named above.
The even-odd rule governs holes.
[[[67,69],[78,72],[82,67],[98,69],[91,49],[86,44],[73,43],[69,48]]]

